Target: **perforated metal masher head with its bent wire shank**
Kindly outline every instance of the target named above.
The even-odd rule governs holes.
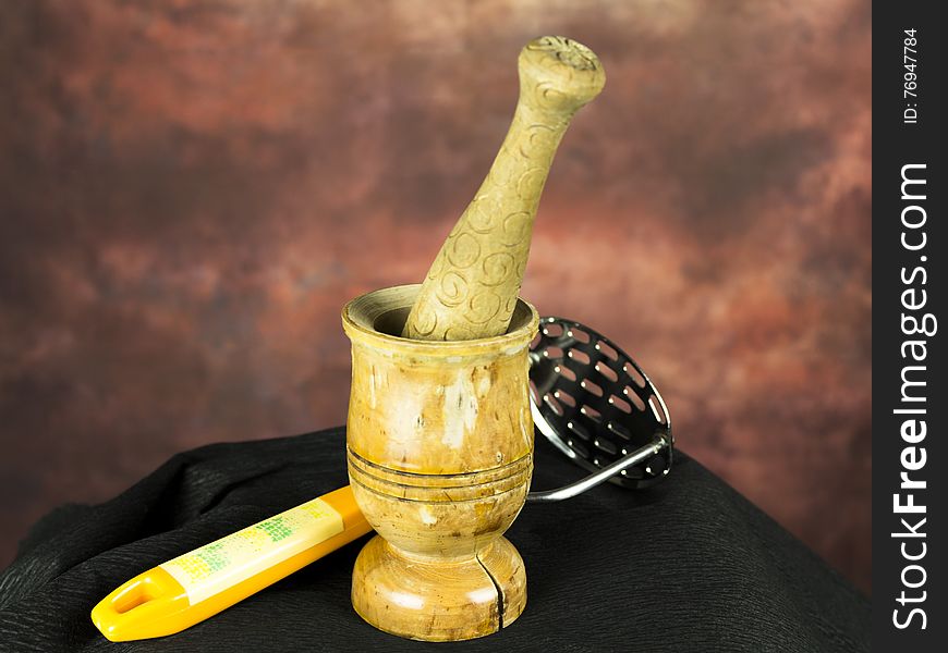
[[[585,479],[527,501],[576,496],[610,481],[635,490],[671,470],[671,417],[647,374],[609,338],[572,320],[545,317],[530,345],[536,428],[581,467]]]

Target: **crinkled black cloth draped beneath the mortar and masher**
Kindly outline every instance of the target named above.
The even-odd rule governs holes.
[[[344,431],[215,444],[171,458],[120,496],[40,520],[0,575],[0,650],[867,651],[870,603],[698,463],[679,454],[644,492],[612,484],[527,504],[508,531],[527,605],[500,633],[425,644],[353,612],[362,539],[174,636],[107,641],[92,607],[131,577],[347,482]],[[583,471],[537,439],[534,489]]]

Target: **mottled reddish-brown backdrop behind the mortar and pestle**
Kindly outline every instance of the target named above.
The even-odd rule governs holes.
[[[174,452],[344,420],[339,309],[421,280],[519,48],[605,93],[524,295],[628,348],[680,445],[870,589],[870,3],[0,3],[0,567]]]

